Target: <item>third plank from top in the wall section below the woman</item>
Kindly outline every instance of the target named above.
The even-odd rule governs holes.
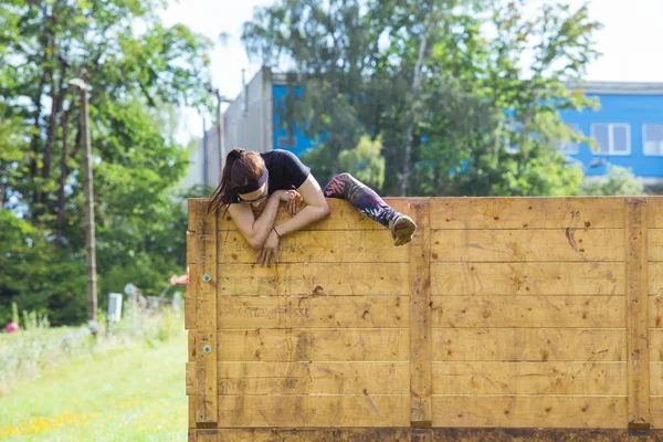
[[[219,294],[225,295],[409,295],[409,263],[246,264],[219,266]]]

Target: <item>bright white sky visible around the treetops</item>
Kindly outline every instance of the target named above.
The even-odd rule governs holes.
[[[529,4],[536,7],[547,1],[530,0]],[[166,24],[183,23],[217,42],[212,52],[212,82],[223,95],[234,98],[242,88],[242,70],[246,70],[246,81],[250,81],[260,69],[259,63],[246,59],[240,41],[242,23],[251,19],[254,7],[272,2],[170,0],[160,15]],[[585,0],[565,2],[578,8]],[[663,82],[663,0],[590,0],[589,12],[591,19],[604,28],[596,34],[598,50],[603,55],[589,66],[587,80]],[[219,43],[221,32],[230,34],[225,45]],[[189,134],[200,136],[202,120],[187,112],[181,130],[182,141]]]

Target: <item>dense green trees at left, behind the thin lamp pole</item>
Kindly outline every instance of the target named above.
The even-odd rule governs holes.
[[[172,191],[188,155],[173,139],[172,115],[182,105],[212,109],[212,43],[181,24],[165,27],[156,13],[164,6],[0,4],[0,221],[13,232],[7,250],[24,264],[13,273],[23,282],[0,281],[2,307],[17,301],[21,311],[49,311],[55,325],[85,317],[80,114],[67,87],[82,70],[91,86],[99,305],[129,278],[158,294],[183,270],[186,219]]]

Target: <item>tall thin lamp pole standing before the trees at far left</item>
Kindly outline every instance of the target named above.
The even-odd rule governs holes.
[[[85,250],[87,252],[87,319],[90,332],[97,335],[96,244],[94,235],[94,191],[92,186],[92,147],[90,112],[87,108],[87,71],[81,70],[77,78],[69,82],[81,94],[81,143],[83,150],[83,193],[85,196]]]

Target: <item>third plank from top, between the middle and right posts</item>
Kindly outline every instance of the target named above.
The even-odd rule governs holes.
[[[431,264],[431,292],[433,295],[623,295],[625,264],[438,263]]]

